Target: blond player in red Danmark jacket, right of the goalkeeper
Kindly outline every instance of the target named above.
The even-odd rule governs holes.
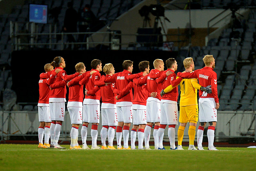
[[[198,78],[199,84],[203,87],[212,85],[212,93],[199,90],[199,122],[197,130],[197,150],[204,150],[202,146],[203,133],[206,122],[209,122],[207,130],[208,150],[217,150],[213,146],[214,131],[217,122],[217,109],[219,109],[219,98],[217,90],[217,74],[213,71],[215,68],[215,59],[212,55],[205,55],[203,58],[205,67],[197,69],[190,73],[177,73],[177,76],[183,78]]]

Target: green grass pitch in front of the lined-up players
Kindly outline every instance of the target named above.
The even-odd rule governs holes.
[[[188,151],[188,147],[183,147],[182,151],[146,151],[69,150],[69,145],[62,146],[67,149],[0,144],[0,170],[256,170],[253,148]]]

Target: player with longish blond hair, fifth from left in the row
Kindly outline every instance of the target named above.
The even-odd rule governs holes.
[[[112,64],[106,64],[103,67],[103,72],[106,77],[110,77],[115,74],[115,68]],[[102,129],[100,131],[101,149],[116,150],[113,146],[113,140],[115,137],[115,129],[117,126],[117,114],[116,114],[116,98],[115,94],[119,94],[115,88],[115,82],[112,84],[106,84],[100,87],[101,94],[101,123]],[[108,134],[108,148],[106,146],[106,137]]]

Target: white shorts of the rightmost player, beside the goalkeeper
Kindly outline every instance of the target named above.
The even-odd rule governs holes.
[[[217,122],[214,98],[199,98],[199,122]]]

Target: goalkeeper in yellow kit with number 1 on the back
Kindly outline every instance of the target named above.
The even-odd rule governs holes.
[[[186,69],[184,72],[191,72],[195,69],[193,58],[186,58],[183,61],[183,65]],[[178,78],[178,77],[177,77]],[[176,78],[176,79],[177,79]],[[172,85],[166,87],[161,91],[162,96],[165,93],[170,92],[173,89]],[[196,150],[194,146],[195,134],[196,134],[196,123],[198,121],[198,103],[197,103],[197,89],[212,93],[210,86],[202,87],[197,83],[196,78],[183,79],[180,82],[180,126],[178,129],[178,148],[177,150],[184,150],[182,148],[182,139],[184,135],[184,129],[186,124],[189,122],[188,136],[189,136],[189,147],[188,150]]]

